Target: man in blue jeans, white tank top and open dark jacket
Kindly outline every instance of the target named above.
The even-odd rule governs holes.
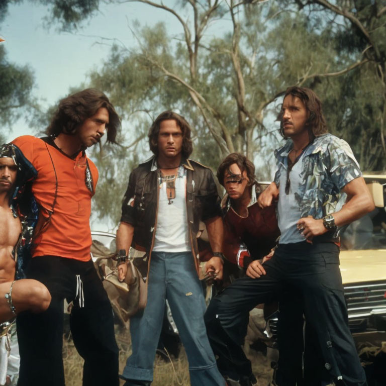
[[[205,222],[213,250],[207,273],[222,277],[223,226],[211,170],[189,159],[190,127],[171,111],[149,131],[154,156],[135,168],[123,200],[117,249],[147,253],[147,304],[130,319],[133,353],[122,378],[125,386],[150,385],[166,300],[189,362],[192,386],[223,386],[204,324],[206,309],[199,280],[197,234]],[[124,279],[127,265],[119,265]]]

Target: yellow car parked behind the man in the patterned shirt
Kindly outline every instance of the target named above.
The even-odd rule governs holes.
[[[386,174],[363,173],[375,210],[340,230],[340,270],[357,342],[386,341]]]

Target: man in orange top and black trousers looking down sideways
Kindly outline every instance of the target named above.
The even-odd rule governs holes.
[[[118,347],[110,301],[90,259],[89,217],[98,169],[85,149],[107,130],[115,142],[120,120],[107,96],[86,89],[63,99],[49,136],[13,143],[36,170],[31,191],[39,209],[27,278],[44,283],[52,297],[42,314],[17,320],[20,386],[64,386],[63,301],[73,301],[70,327],[84,359],[83,386],[118,386]]]

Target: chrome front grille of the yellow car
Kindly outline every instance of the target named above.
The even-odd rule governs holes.
[[[349,284],[344,286],[348,319],[352,331],[375,329],[373,315],[386,315],[386,282]]]

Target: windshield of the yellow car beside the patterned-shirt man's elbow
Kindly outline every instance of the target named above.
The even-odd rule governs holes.
[[[340,230],[342,250],[386,249],[386,211],[372,212]]]

